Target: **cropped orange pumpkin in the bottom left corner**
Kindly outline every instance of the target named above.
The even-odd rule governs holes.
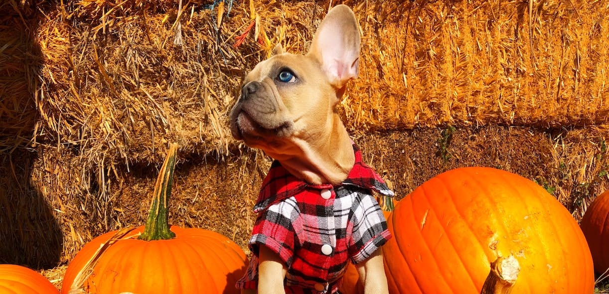
[[[27,267],[0,264],[0,293],[59,294],[48,279]]]

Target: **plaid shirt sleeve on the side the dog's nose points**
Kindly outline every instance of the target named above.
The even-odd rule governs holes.
[[[252,253],[259,256],[260,246],[265,246],[280,256],[289,268],[297,244],[292,221],[298,215],[297,206],[291,198],[259,212],[249,242]]]

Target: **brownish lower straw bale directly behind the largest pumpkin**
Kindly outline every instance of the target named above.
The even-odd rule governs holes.
[[[495,126],[368,133],[356,142],[398,198],[438,173],[488,166],[536,181],[580,220],[609,189],[608,139],[609,125],[555,131]]]

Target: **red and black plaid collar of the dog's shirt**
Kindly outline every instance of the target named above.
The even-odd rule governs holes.
[[[374,169],[362,163],[362,153],[355,143],[353,143],[353,152],[355,153],[355,164],[347,179],[342,184],[345,186],[356,186],[364,189],[375,190],[385,196],[393,196],[393,191],[389,189],[381,176]],[[279,161],[273,161],[269,173],[262,181],[262,188],[258,194],[258,200],[254,206],[255,212],[263,211],[269,206],[290,198],[300,192],[303,192],[307,187],[312,189],[328,189],[331,184],[308,184],[303,180],[294,177],[291,173],[281,166]]]

